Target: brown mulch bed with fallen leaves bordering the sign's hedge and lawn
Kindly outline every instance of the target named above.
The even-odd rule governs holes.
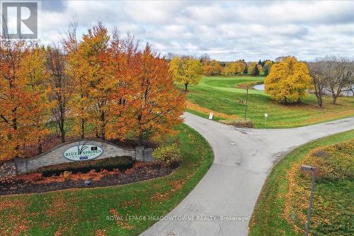
[[[133,167],[134,168],[134,167]],[[154,179],[157,177],[167,176],[173,172],[177,167],[162,167],[160,164],[146,164],[142,167],[128,169],[126,172],[119,172],[116,174],[110,174],[103,176],[102,179],[96,181],[93,178],[89,179],[91,184],[86,186],[84,180],[65,180],[63,182],[50,182],[35,184],[32,181],[24,181],[19,179],[13,179],[11,183],[8,181],[0,182],[0,196],[8,194],[20,194],[20,193],[45,193],[48,191],[56,191],[61,189],[81,189],[81,188],[93,188],[101,186],[115,186],[119,184],[130,184],[137,181],[144,181],[148,179]]]

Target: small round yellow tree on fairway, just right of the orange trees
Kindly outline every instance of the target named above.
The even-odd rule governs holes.
[[[202,65],[192,57],[174,57],[170,62],[173,79],[184,84],[185,91],[189,84],[199,84],[202,79]]]

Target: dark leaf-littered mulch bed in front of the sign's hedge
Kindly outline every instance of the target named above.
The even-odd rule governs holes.
[[[137,181],[154,179],[167,176],[177,167],[164,167],[158,163],[137,162],[125,172],[102,170],[101,172],[89,172],[86,174],[72,174],[70,176],[41,177],[39,174],[25,174],[13,179],[0,182],[0,195],[20,193],[44,193],[62,189],[81,189],[100,186],[115,186],[130,184]],[[90,180],[90,185],[84,181]]]

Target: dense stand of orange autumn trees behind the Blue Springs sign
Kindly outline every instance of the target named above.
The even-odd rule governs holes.
[[[120,38],[98,23],[76,39],[72,23],[63,51],[28,48],[18,42],[0,47],[0,160],[20,157],[38,145],[54,119],[62,142],[65,125],[81,138],[161,140],[181,123],[185,98],[173,84],[169,63],[134,37]],[[198,73],[200,77],[200,62]],[[194,67],[193,67],[194,68]],[[193,72],[194,73],[194,72]],[[193,74],[194,75],[194,74]],[[91,133],[90,133],[91,132]]]

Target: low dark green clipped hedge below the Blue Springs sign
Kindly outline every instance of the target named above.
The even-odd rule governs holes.
[[[41,167],[37,172],[42,173],[43,176],[52,176],[53,174],[62,174],[62,172],[65,171],[72,173],[87,173],[92,169],[98,172],[101,171],[101,169],[107,169],[109,171],[113,169],[125,170],[132,167],[132,164],[132,157],[110,157],[105,159],[54,164],[47,167]]]

